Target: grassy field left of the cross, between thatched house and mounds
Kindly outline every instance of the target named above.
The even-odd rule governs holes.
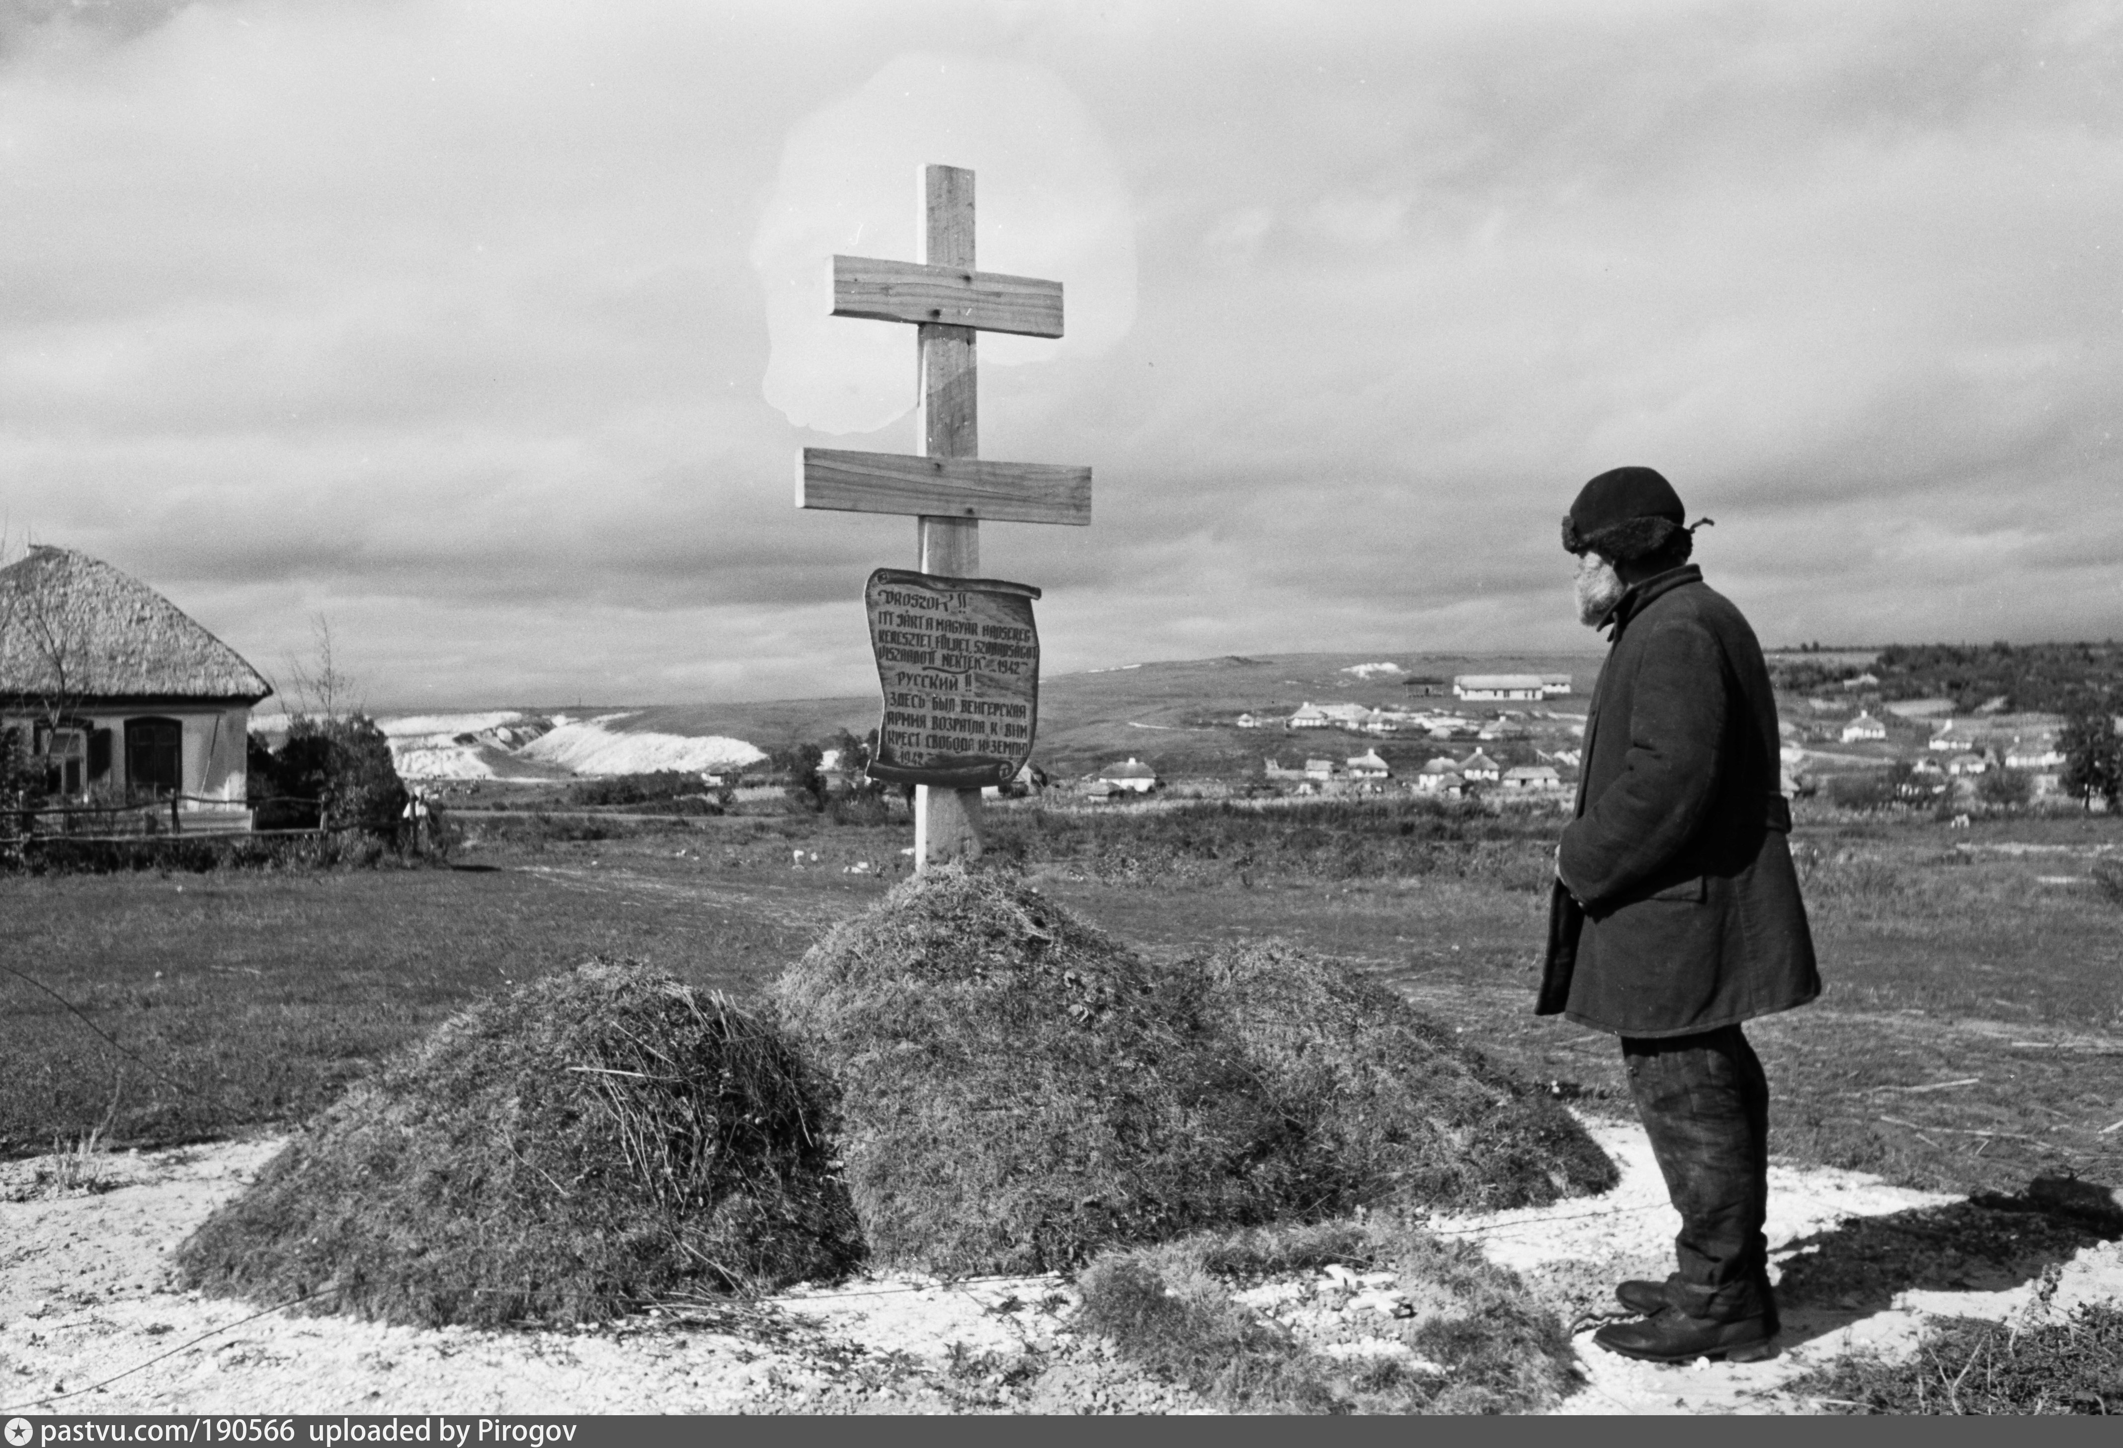
[[[749,994],[881,890],[794,873],[779,841],[737,868],[696,851],[656,834],[461,868],[0,879],[0,1153],[72,1140],[113,1098],[121,1144],[301,1119],[467,1000],[597,953]]]

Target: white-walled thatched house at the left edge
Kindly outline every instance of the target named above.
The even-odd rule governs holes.
[[[62,800],[248,830],[251,709],[267,694],[236,650],[108,563],[34,546],[0,569],[0,728]]]

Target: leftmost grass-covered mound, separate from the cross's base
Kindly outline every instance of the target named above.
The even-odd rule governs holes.
[[[769,1021],[590,962],[476,1004],[348,1091],[178,1272],[420,1325],[834,1276],[862,1248],[815,1100]]]

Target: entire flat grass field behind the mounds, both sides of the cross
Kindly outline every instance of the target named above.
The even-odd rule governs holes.
[[[1021,811],[998,834],[1045,890],[1146,949],[1291,938],[1626,1113],[1613,1042],[1529,1015],[1554,828]],[[0,975],[0,1151],[79,1136],[115,1091],[121,1144],[299,1119],[461,1002],[590,953],[749,994],[885,890],[904,834],[705,820],[493,839],[456,870],[0,879],[6,964],[123,1049]],[[1826,996],[1749,1028],[1773,1149],[1957,1191],[2059,1168],[2123,1180],[2123,907],[2089,877],[2117,845],[2106,817],[1802,820]],[[1129,868],[1106,868],[1119,856]]]

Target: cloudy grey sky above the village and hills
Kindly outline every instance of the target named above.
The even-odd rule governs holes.
[[[983,344],[1049,671],[1580,648],[1647,463],[1764,641],[2123,635],[2123,8],[0,0],[0,514],[374,705],[860,692],[913,257]]]

